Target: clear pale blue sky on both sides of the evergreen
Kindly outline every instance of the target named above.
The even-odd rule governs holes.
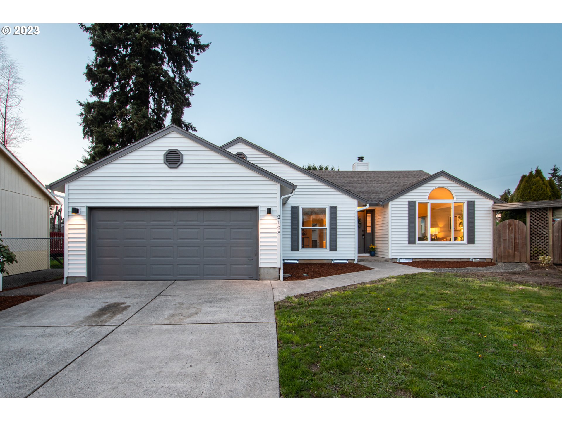
[[[198,25],[211,48],[185,120],[221,145],[242,136],[297,164],[445,170],[499,195],[562,166],[560,25]],[[78,25],[2,36],[22,67],[32,140],[19,157],[44,182],[87,147],[76,99],[93,57]]]

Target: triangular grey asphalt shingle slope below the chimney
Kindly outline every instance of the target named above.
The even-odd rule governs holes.
[[[430,174],[425,171],[310,171],[351,191],[370,203],[382,200],[405,190]]]

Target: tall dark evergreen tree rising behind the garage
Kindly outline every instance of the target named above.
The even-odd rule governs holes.
[[[189,79],[196,56],[209,44],[191,24],[80,25],[88,34],[94,59],[84,75],[92,101],[78,102],[82,132],[90,145],[80,162],[90,164],[165,127],[166,119],[185,130],[191,107]]]

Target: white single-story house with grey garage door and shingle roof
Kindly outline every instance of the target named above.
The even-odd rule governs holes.
[[[242,138],[167,126],[48,185],[65,192],[65,276],[279,278],[285,259],[492,258],[499,199],[445,172],[307,171]],[[359,223],[361,221],[361,223]]]

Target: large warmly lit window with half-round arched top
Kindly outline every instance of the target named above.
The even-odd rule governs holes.
[[[433,189],[427,202],[418,202],[418,242],[465,241],[465,204],[445,187]]]

